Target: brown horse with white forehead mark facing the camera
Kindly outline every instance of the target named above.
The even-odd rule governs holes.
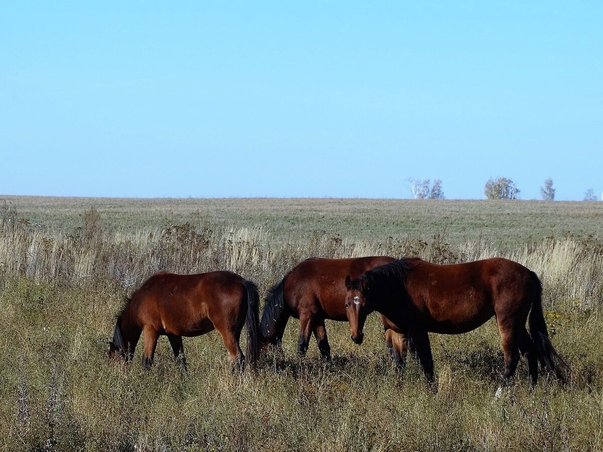
[[[566,369],[553,348],[542,312],[537,275],[512,260],[494,258],[437,265],[417,258],[388,263],[361,277],[346,277],[346,312],[352,337],[362,334],[376,310],[410,334],[426,377],[434,380],[428,332],[459,334],[496,318],[505,353],[505,379],[513,376],[520,353],[532,384],[538,362],[563,380]],[[530,334],[525,324],[529,313]],[[405,347],[403,347],[405,348]]]

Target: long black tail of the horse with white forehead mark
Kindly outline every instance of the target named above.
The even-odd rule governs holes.
[[[542,311],[542,284],[538,276],[534,272],[531,273],[536,283],[537,292],[529,313],[529,333],[532,336],[540,365],[548,372],[555,374],[555,377],[563,382],[567,380],[568,366],[551,344],[551,338],[546,328],[545,315]]]

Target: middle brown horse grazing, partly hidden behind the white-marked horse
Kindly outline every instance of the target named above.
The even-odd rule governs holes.
[[[352,259],[319,259],[312,257],[299,263],[280,283],[268,292],[260,331],[264,344],[280,344],[290,316],[300,321],[297,351],[305,354],[310,335],[314,336],[321,355],[330,359],[330,346],[324,321],[347,321],[344,300],[346,298],[346,275],[359,277],[365,271],[385,263],[394,262],[393,257],[373,256]],[[402,344],[397,328],[383,317],[387,345],[393,351]],[[393,329],[392,329],[393,328]],[[362,334],[355,342],[362,342]],[[397,355],[399,356],[399,354]]]

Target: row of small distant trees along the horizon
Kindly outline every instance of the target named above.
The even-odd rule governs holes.
[[[409,188],[414,199],[445,199],[442,189],[441,179],[434,180],[431,184],[429,179],[408,179]],[[545,201],[555,200],[555,188],[552,178],[547,178],[543,186],[540,187],[540,196]],[[489,178],[484,186],[484,196],[487,199],[518,199],[520,190],[516,184],[508,177]],[[603,194],[601,195],[603,201]],[[598,201],[595,190],[589,188],[584,193],[583,201]]]

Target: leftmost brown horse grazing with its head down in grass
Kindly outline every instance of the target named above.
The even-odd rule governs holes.
[[[258,306],[256,285],[232,272],[157,273],[131,295],[119,313],[109,356],[121,354],[130,360],[144,331],[145,367],[153,362],[160,335],[168,336],[174,357],[186,366],[182,336],[200,336],[216,329],[230,362],[242,369],[245,357],[239,338],[245,324],[247,361],[254,365],[259,353]]]

